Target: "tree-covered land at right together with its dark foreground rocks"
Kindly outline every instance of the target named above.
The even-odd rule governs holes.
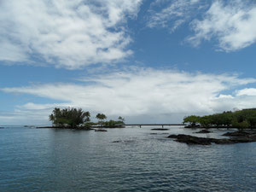
[[[212,115],[196,116],[190,115],[184,117],[183,123],[189,123],[185,128],[204,128],[205,130],[195,133],[208,134],[213,128],[236,128],[238,131],[224,133],[224,137],[229,138],[210,138],[195,137],[190,135],[170,135],[168,138],[174,138],[179,143],[211,145],[232,144],[232,143],[252,143],[256,142],[256,108],[242,109],[236,112],[227,111],[224,113],[215,113]]]

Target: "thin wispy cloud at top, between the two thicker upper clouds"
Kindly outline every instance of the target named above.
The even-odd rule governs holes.
[[[171,32],[175,31],[185,21],[189,20],[191,15],[195,13],[195,9],[201,8],[198,0],[176,0],[167,1],[168,5],[160,11],[155,11],[154,7],[166,3],[166,1],[155,1],[151,3],[151,16],[148,19],[147,26],[150,28],[161,26],[168,27]],[[170,2],[170,3],[169,3]]]

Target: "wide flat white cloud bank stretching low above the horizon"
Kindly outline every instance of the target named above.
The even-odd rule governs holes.
[[[57,106],[84,108],[130,122],[180,122],[191,113],[217,113],[232,108],[252,108],[256,98],[224,95],[226,90],[255,83],[229,74],[184,73],[136,68],[83,79],[79,84],[41,84],[3,88],[4,92],[31,94],[61,104],[25,103],[19,110],[43,110]]]

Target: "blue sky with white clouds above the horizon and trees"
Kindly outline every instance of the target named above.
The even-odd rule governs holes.
[[[0,125],[256,108],[255,23],[249,0],[0,1]]]

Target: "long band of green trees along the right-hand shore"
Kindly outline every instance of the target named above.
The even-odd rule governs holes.
[[[243,109],[236,112],[227,111],[202,117],[191,115],[184,117],[183,123],[189,123],[189,127],[256,128],[256,108]]]

